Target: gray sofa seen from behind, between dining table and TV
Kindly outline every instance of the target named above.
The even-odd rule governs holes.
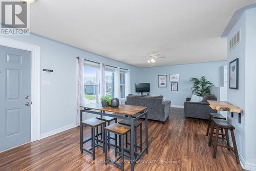
[[[170,101],[163,101],[163,96],[132,95],[126,97],[125,104],[147,107],[147,118],[164,123],[170,113]]]

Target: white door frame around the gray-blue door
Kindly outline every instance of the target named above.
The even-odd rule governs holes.
[[[40,139],[41,47],[0,36],[0,45],[31,51],[31,142]]]

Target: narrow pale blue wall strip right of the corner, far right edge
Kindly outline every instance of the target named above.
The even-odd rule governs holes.
[[[246,10],[246,49],[245,49],[245,147],[246,166],[256,170],[255,103],[256,103],[256,8]],[[252,75],[254,78],[252,78]],[[249,166],[253,166],[253,169]]]

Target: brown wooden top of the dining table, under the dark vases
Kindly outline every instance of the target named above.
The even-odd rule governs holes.
[[[117,114],[131,115],[131,116],[136,115],[137,113],[147,109],[147,107],[144,107],[144,106],[127,105],[127,104],[120,104],[117,108],[113,108],[111,106],[102,108],[101,103],[85,104],[85,105],[81,105],[80,107],[99,110],[99,111],[105,111],[105,112],[114,112]]]

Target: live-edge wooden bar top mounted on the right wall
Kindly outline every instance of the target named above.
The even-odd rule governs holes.
[[[207,100],[210,103],[210,107],[213,110],[217,111],[227,111],[235,113],[243,113],[243,110],[236,105],[232,105],[227,101],[216,101],[216,100]]]

